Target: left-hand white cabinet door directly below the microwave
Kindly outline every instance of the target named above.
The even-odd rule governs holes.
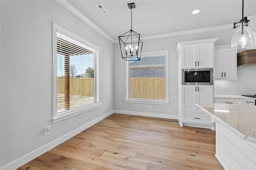
[[[196,86],[182,85],[182,111],[196,112]]]

